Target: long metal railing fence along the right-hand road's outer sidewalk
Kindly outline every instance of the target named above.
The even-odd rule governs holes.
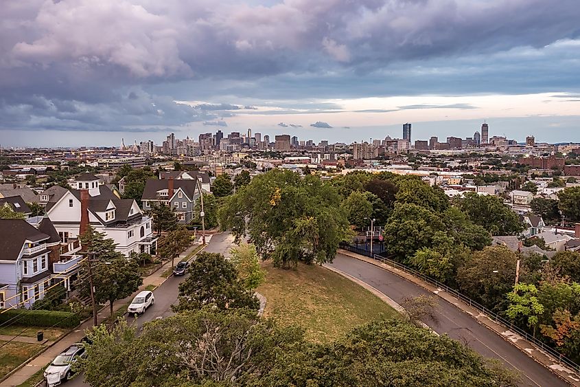
[[[564,364],[566,364],[566,366],[569,366],[570,368],[572,368],[576,373],[580,373],[580,365],[578,365],[575,362],[573,362],[572,360],[568,359],[568,357],[566,357],[565,355],[562,355],[561,353],[559,353],[558,351],[553,349],[551,346],[548,346],[544,342],[537,340],[536,338],[533,337],[533,335],[530,335],[526,331],[516,327],[513,324],[513,322],[510,322],[509,320],[502,318],[494,311],[487,309],[486,307],[484,307],[480,303],[478,303],[478,302],[472,300],[471,298],[459,293],[459,291],[457,291],[456,289],[453,289],[452,287],[448,287],[447,285],[440,283],[438,280],[434,280],[433,278],[430,278],[430,277],[426,276],[425,274],[422,274],[421,272],[417,272],[417,270],[415,270],[415,269],[411,269],[410,267],[408,267],[406,265],[402,265],[401,263],[393,261],[391,258],[388,258],[385,256],[380,256],[378,254],[371,254],[371,252],[369,252],[368,250],[359,249],[358,247],[352,247],[349,245],[343,245],[341,247],[344,250],[348,250],[349,252],[368,256],[369,258],[373,258],[375,261],[380,261],[382,263],[385,263],[386,265],[395,267],[395,269],[402,270],[403,272],[406,272],[408,274],[413,274],[413,276],[421,278],[421,280],[424,280],[426,283],[433,285],[433,286],[436,286],[439,289],[442,289],[444,291],[447,291],[449,294],[452,294],[455,298],[459,298],[459,300],[462,300],[470,307],[477,309],[481,313],[484,313],[490,320],[502,325],[506,329],[509,329],[511,331],[514,331],[515,333],[518,333],[518,335],[521,335],[528,342],[535,344],[535,346],[540,347],[540,349],[542,349],[542,351],[552,355],[553,357],[556,357],[559,362],[564,363]]]

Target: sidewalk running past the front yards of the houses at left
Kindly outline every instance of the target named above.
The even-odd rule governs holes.
[[[185,252],[179,255],[179,258],[185,258],[188,254],[193,252],[199,245],[194,243],[193,245],[189,246]],[[176,259],[176,262],[178,260]],[[163,277],[162,274],[165,270],[171,267],[171,261],[167,261],[163,264],[163,266],[159,267],[159,269],[151,274],[143,278],[143,285],[139,287],[139,290],[135,291],[134,294],[131,296],[124,298],[123,300],[117,300],[113,304],[113,311],[118,311],[121,307],[124,307],[128,302],[139,293],[139,291],[144,290],[148,285],[154,285],[159,287],[161,284],[167,280],[167,277]],[[97,321],[99,323],[103,322],[104,320],[108,319],[109,317],[109,307],[106,305],[97,313]],[[36,372],[40,371],[44,366],[47,366],[57,355],[59,355],[62,351],[65,351],[71,344],[79,342],[84,337],[84,331],[86,329],[91,329],[93,327],[93,317],[85,320],[79,327],[67,333],[67,335],[62,336],[60,340],[52,343],[46,351],[40,353],[40,355],[34,357],[30,362],[25,364],[25,366],[21,366],[20,369],[13,371],[13,373],[5,379],[3,382],[0,382],[0,386],[4,387],[14,387],[18,386],[26,382],[32,375]],[[34,338],[36,340],[36,338]]]

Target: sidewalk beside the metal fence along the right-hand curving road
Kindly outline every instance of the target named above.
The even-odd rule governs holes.
[[[360,261],[364,261],[370,263],[371,265],[378,266],[393,274],[397,274],[397,276],[402,277],[412,283],[415,283],[416,285],[419,285],[420,287],[423,287],[424,289],[431,291],[433,294],[437,294],[437,296],[443,298],[443,300],[449,302],[452,305],[455,305],[457,308],[461,309],[461,311],[469,314],[469,316],[472,316],[472,318],[474,318],[479,324],[482,324],[491,331],[494,331],[494,333],[499,335],[500,338],[502,338],[506,342],[509,342],[514,346],[518,347],[518,349],[520,349],[522,353],[525,353],[526,355],[531,357],[538,364],[541,364],[542,366],[548,368],[550,371],[561,377],[561,379],[564,379],[566,382],[574,386],[580,386],[580,378],[579,375],[577,375],[577,373],[560,364],[557,359],[548,355],[544,351],[538,349],[534,344],[531,344],[531,342],[524,340],[522,336],[512,331],[509,331],[508,328],[494,322],[489,317],[485,316],[485,314],[481,313],[477,309],[474,309],[473,307],[470,307],[465,302],[459,300],[458,298],[455,298],[454,296],[450,295],[443,289],[434,287],[424,282],[424,280],[416,278],[412,274],[403,272],[402,270],[386,265],[385,263],[375,261],[372,258],[351,253],[346,250],[338,250],[338,252],[340,252],[340,254],[350,256],[351,258],[356,258]]]

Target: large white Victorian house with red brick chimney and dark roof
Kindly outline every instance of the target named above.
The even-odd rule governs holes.
[[[143,214],[135,200],[119,199],[90,173],[79,175],[72,185],[78,189],[54,186],[40,194],[41,203],[63,242],[78,239],[84,221],[113,239],[117,251],[126,256],[156,251],[152,219]]]

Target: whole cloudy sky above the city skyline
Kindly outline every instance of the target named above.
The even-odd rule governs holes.
[[[580,142],[578,0],[0,0],[2,146]]]

